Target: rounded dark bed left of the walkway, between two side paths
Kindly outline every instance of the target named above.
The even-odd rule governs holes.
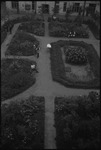
[[[34,46],[35,45],[35,46]],[[31,56],[36,54],[36,48],[39,46],[37,39],[26,32],[18,31],[5,55]]]

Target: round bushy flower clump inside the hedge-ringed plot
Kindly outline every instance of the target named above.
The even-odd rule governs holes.
[[[66,63],[70,63],[73,65],[87,64],[87,54],[82,47],[68,47],[65,55]]]

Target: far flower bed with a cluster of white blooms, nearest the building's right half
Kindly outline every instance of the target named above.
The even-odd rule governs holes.
[[[49,23],[49,35],[54,37],[89,38],[86,29],[82,26],[78,26],[76,23],[59,23],[57,21]]]

